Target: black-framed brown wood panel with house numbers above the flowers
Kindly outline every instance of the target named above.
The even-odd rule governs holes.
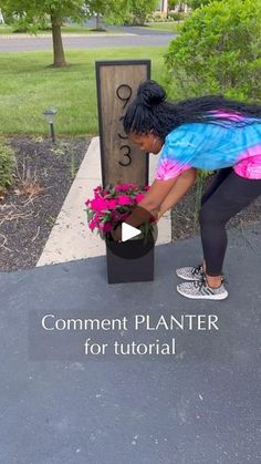
[[[128,104],[150,76],[150,61],[96,61],[103,186],[148,183],[148,154],[133,145],[123,128]]]

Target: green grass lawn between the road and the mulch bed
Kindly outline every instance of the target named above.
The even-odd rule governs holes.
[[[97,134],[95,60],[150,59],[163,82],[165,48],[67,50],[69,68],[48,68],[52,52],[0,53],[0,133],[46,134],[42,112],[55,107],[58,134]]]

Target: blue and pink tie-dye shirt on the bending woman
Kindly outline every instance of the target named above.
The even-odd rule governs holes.
[[[222,116],[246,120],[229,113]],[[229,120],[221,124],[187,123],[171,131],[159,155],[156,179],[177,177],[190,167],[216,171],[229,166],[241,177],[261,179],[261,118],[237,127]]]

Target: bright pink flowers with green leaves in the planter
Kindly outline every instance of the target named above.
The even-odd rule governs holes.
[[[148,189],[148,186],[139,187],[136,184],[94,188],[94,198],[85,202],[90,229],[97,229],[101,238],[105,239],[111,230],[127,218]]]

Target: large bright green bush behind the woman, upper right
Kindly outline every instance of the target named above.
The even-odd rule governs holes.
[[[261,100],[261,0],[212,1],[180,27],[165,55],[176,99]]]

